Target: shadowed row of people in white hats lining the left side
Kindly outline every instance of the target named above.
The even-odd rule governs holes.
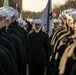
[[[0,74],[26,75],[26,21],[12,7],[0,8]]]

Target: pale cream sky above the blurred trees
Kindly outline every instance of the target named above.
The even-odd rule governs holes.
[[[52,0],[52,7],[55,4],[64,4],[66,0]],[[48,0],[23,0],[23,9],[25,11],[35,11],[39,12],[42,11],[46,5],[47,5]]]

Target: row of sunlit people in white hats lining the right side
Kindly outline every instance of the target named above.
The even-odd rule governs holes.
[[[60,24],[50,37],[53,53],[50,57],[49,75],[75,75],[76,9],[64,10],[57,20],[60,20]]]

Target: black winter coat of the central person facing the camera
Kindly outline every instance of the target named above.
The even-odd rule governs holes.
[[[42,30],[27,35],[28,63],[46,63],[51,54],[49,37]]]

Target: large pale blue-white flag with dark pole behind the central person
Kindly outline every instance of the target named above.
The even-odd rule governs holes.
[[[52,34],[52,2],[51,0],[48,0],[46,8],[41,16],[41,19],[43,20],[42,30],[46,32],[50,37]]]

